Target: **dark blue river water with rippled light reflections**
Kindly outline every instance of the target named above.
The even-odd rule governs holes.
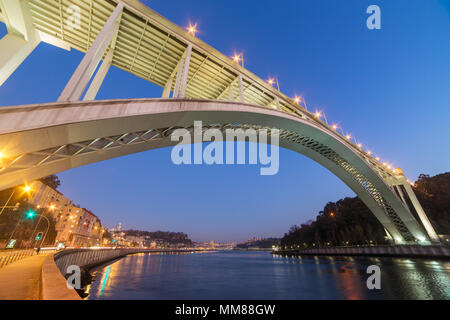
[[[381,289],[369,290],[369,265]],[[450,299],[450,262],[269,252],[136,254],[93,272],[88,299]]]

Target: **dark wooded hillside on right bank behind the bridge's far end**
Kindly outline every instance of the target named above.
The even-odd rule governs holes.
[[[450,173],[420,175],[414,191],[438,234],[450,234]],[[381,223],[358,198],[329,202],[311,224],[292,226],[282,246],[386,243]]]

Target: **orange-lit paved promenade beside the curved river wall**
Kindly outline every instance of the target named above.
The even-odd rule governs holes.
[[[41,270],[47,255],[27,257],[0,269],[0,300],[39,300]]]

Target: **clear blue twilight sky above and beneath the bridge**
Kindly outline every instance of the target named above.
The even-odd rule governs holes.
[[[449,170],[450,1],[147,0],[180,26],[281,90],[302,94],[407,177]],[[366,8],[381,8],[368,30]],[[6,33],[0,24],[0,36]],[[1,50],[1,48],[0,48]],[[42,43],[0,87],[0,105],[55,101],[82,54]],[[112,67],[98,99],[158,97],[162,89]],[[175,166],[153,150],[59,174],[61,191],[107,226],[241,241],[282,236],[327,201],[353,192],[312,160],[280,152],[280,171],[257,166]]]

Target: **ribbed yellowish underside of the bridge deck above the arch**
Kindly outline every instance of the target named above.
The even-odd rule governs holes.
[[[174,78],[177,67],[189,44],[192,44],[186,97],[196,99],[229,100],[229,88],[233,90],[233,100],[239,100],[239,75],[243,78],[243,102],[302,117],[324,129],[338,133],[326,120],[310,113],[291,97],[278,91],[266,81],[234,62],[230,57],[212,48],[186,30],[160,16],[137,0],[123,0],[124,11],[116,38],[112,65],[140,78],[164,87]],[[80,25],[72,27],[69,8],[75,5],[80,9]],[[95,38],[113,12],[117,0],[29,0],[33,24],[41,40],[70,50],[81,52],[93,44]],[[0,19],[5,15],[0,12]],[[175,89],[173,81],[171,90]],[[370,153],[348,139],[349,147],[364,158],[376,172],[385,179],[394,177],[392,168],[383,165]]]

